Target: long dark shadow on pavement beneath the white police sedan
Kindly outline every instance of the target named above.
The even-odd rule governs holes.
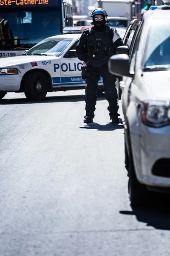
[[[105,96],[98,97],[97,101],[104,100]],[[84,101],[85,95],[64,95],[64,96],[46,96],[43,101],[28,101],[26,98],[16,99],[1,99],[0,105],[10,105],[10,104],[35,104],[35,103],[50,103],[50,102],[79,102]]]

